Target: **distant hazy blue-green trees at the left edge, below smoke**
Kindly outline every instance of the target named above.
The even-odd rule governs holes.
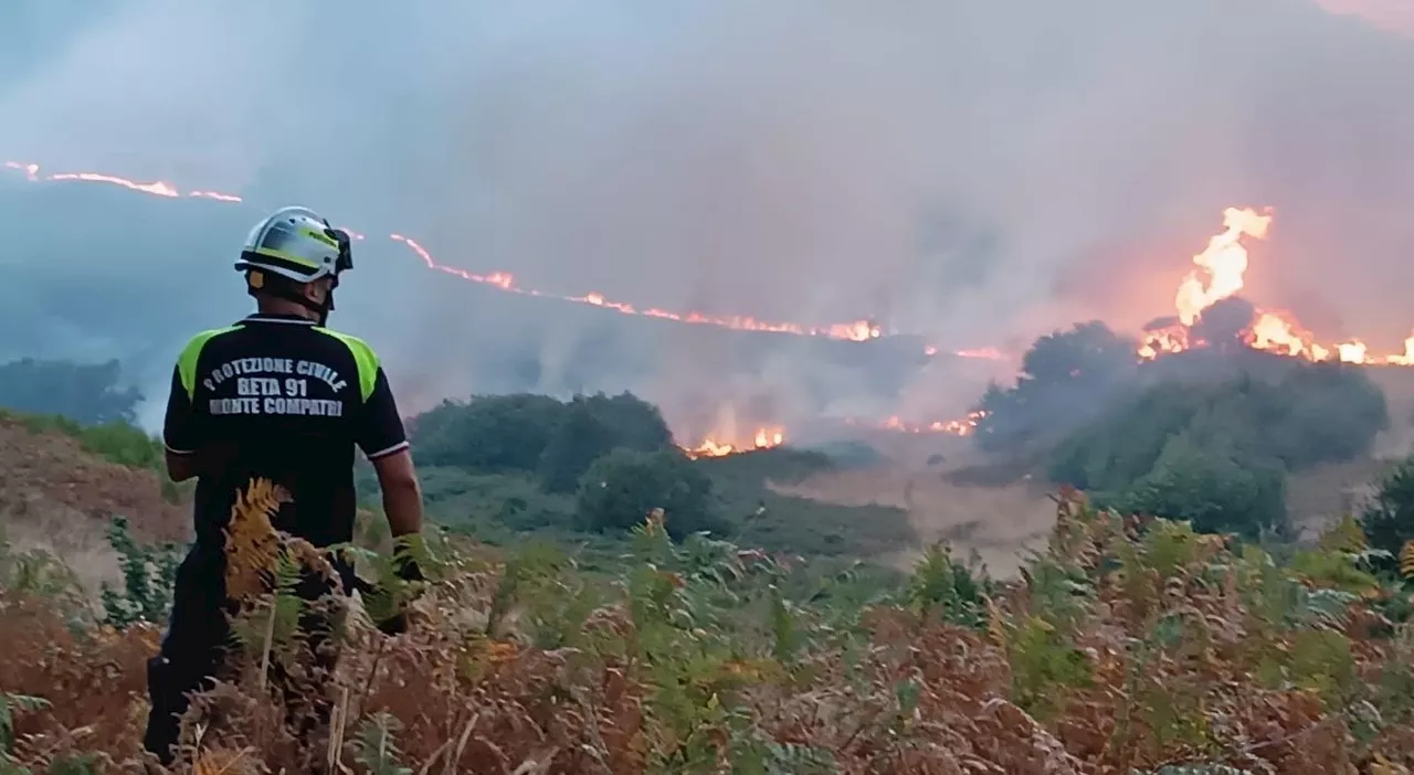
[[[0,406],[30,414],[58,414],[85,426],[133,423],[143,393],[120,388],[120,372],[117,361],[13,361],[0,365]]]

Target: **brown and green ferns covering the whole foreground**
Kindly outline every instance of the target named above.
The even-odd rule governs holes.
[[[233,525],[269,529],[257,516]],[[279,546],[266,573],[238,577],[318,561]],[[797,563],[674,542],[659,519],[633,528],[608,580],[539,543],[430,552],[433,583],[404,591],[420,595],[407,635],[385,638],[355,605],[334,673],[298,679],[335,709],[304,748],[274,680],[314,670],[298,604],[250,585],[235,680],[198,697],[185,728],[197,771],[1301,775],[1414,761],[1414,638],[1381,615],[1411,590],[1362,570],[1353,523],[1278,564],[1066,494],[1017,583],[937,546],[896,584],[800,584]],[[382,578],[383,557],[359,550],[363,573]],[[0,567],[17,564],[62,567],[6,549]],[[64,577],[0,588],[8,772],[139,757],[157,625],[99,627],[62,584],[35,581]]]

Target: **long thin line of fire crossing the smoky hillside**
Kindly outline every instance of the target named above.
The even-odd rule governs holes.
[[[136,191],[139,194],[148,194],[153,197],[164,197],[170,199],[175,198],[198,198],[198,199],[212,199],[218,202],[243,202],[245,199],[235,194],[223,194],[219,191],[205,191],[192,190],[184,191],[177,185],[165,181],[143,182],[134,181],[117,175],[109,175],[105,173],[57,173],[57,174],[41,174],[40,165],[34,163],[20,163],[20,161],[6,161],[6,168],[18,171],[30,182],[44,182],[44,181],[82,181],[82,182],[102,182],[107,185],[117,185],[127,191]],[[363,239],[363,235],[356,235],[358,239]],[[710,315],[706,313],[686,311],[677,313],[670,310],[662,310],[658,307],[638,308],[632,304],[624,301],[614,301],[601,293],[590,291],[583,296],[559,294],[536,289],[526,289],[518,286],[515,276],[508,272],[492,272],[489,274],[478,274],[468,272],[465,269],[458,269],[444,263],[438,263],[433,259],[431,253],[427,252],[416,239],[400,235],[390,233],[390,239],[403,243],[407,249],[417,255],[427,266],[437,272],[451,274],[454,277],[461,277],[462,280],[469,280],[472,283],[479,283],[489,286],[506,293],[516,293],[522,296],[534,296],[543,298],[554,298],[559,301],[570,301],[575,304],[588,304],[592,307],[600,307],[604,310],[612,310],[625,315],[642,315],[652,318],[670,320],[676,322],[683,322],[689,325],[714,325],[720,328],[731,328],[737,331],[762,331],[762,332],[776,332],[776,334],[793,334],[799,337],[824,337],[830,339],[844,339],[854,342],[864,342],[870,339],[878,339],[884,337],[884,330],[868,320],[855,320],[851,322],[834,322],[827,325],[806,325],[800,322],[779,322],[779,321],[765,321],[749,315]],[[928,355],[935,355],[936,348],[928,346]],[[954,352],[960,358],[988,358],[1000,359],[1001,355],[994,351],[960,351]]]

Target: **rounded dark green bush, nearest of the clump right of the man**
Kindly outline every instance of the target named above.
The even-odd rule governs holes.
[[[725,533],[714,509],[711,479],[676,450],[614,450],[580,479],[577,513],[585,530],[624,532],[660,508],[669,535]]]

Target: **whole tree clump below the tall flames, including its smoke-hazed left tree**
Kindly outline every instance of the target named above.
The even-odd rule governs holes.
[[[1213,311],[1199,331],[1210,348],[1154,363],[1100,322],[1041,337],[1015,385],[983,396],[978,445],[1121,512],[1285,535],[1288,472],[1369,454],[1384,395],[1360,368],[1246,348],[1241,300]]]

